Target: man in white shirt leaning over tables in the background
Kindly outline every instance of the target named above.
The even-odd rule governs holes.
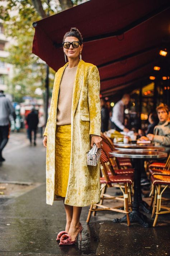
[[[124,123],[124,106],[130,101],[129,94],[124,94],[122,99],[119,100],[113,107],[112,117],[111,117],[111,128],[117,131],[129,130],[123,125]]]

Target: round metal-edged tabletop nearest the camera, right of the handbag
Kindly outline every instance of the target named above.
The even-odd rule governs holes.
[[[142,150],[142,151],[126,151],[126,150],[119,150],[109,152],[114,157],[128,157],[128,158],[163,158],[167,157],[167,153],[160,152],[160,151],[149,151],[149,150]]]

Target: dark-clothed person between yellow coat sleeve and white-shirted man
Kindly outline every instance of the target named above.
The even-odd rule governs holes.
[[[109,109],[107,108],[106,102],[104,99],[100,99],[101,106],[101,132],[104,133],[108,130],[109,125]]]

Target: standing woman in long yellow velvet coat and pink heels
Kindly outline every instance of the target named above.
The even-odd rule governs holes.
[[[100,200],[99,163],[96,167],[88,166],[86,154],[94,143],[98,148],[102,145],[100,78],[97,67],[81,59],[82,47],[79,30],[71,28],[63,39],[63,51],[68,62],[55,75],[49,117],[44,131],[43,145],[47,147],[47,204],[52,205],[54,200],[61,198],[66,211],[66,228],[63,233],[69,235],[64,239],[59,235],[60,244],[75,243],[77,235],[82,231],[82,207]],[[67,74],[70,79],[74,76],[72,87]],[[69,95],[70,105],[63,106]],[[67,112],[63,113],[62,108],[66,106]]]

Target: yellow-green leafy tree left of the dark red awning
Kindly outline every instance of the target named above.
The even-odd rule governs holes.
[[[14,100],[22,101],[22,96],[25,95],[35,96],[37,87],[44,90],[46,65],[32,54],[32,23],[47,17],[47,14],[55,14],[81,2],[50,0],[48,4],[47,0],[6,0],[6,6],[0,6],[0,18],[4,20],[5,34],[11,39],[7,49],[10,53],[8,63],[13,64],[15,75],[8,84]],[[50,69],[50,87],[53,85],[54,73]],[[20,85],[21,90],[15,90],[16,85]]]

